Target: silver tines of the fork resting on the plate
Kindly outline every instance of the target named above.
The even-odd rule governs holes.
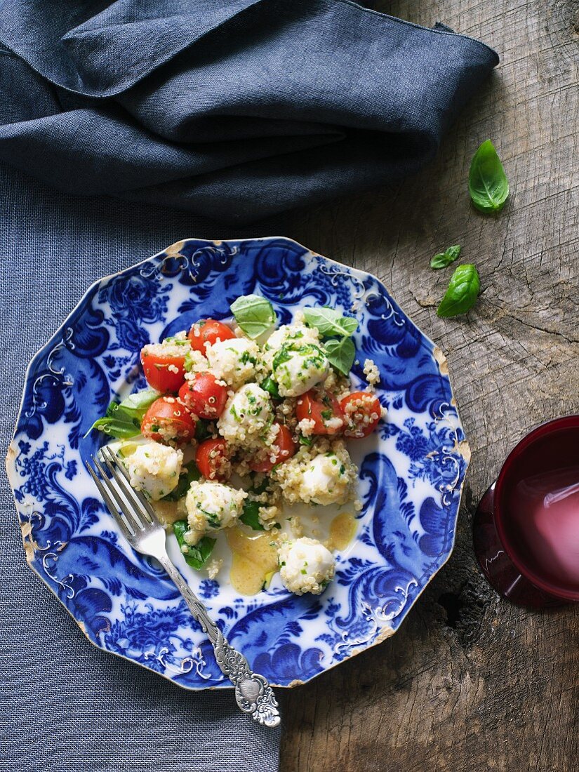
[[[153,507],[142,493],[130,485],[127,470],[110,448],[105,445],[100,449],[100,458],[110,474],[107,474],[107,469],[97,456],[91,455],[90,458],[100,478],[88,461],[85,462],[86,469],[103,496],[110,514],[128,539],[144,530],[147,525],[157,523]]]

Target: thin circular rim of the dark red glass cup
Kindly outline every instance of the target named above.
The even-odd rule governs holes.
[[[519,442],[516,443],[514,448],[510,451],[509,455],[507,455],[506,459],[503,461],[503,466],[500,468],[499,476],[496,478],[493,520],[495,521],[495,527],[499,535],[501,547],[503,547],[503,550],[505,550],[510,560],[513,561],[513,564],[516,566],[518,571],[523,574],[523,577],[526,577],[531,584],[534,584],[536,587],[540,587],[541,590],[547,592],[550,595],[554,595],[556,598],[564,598],[568,601],[579,601],[579,590],[564,590],[557,584],[552,584],[549,581],[545,581],[543,577],[538,576],[533,571],[529,571],[529,569],[519,560],[516,554],[513,553],[513,550],[510,549],[509,538],[507,537],[506,530],[503,527],[504,511],[501,512],[501,499],[503,496],[504,482],[510,467],[509,462],[512,462],[513,459],[519,456],[521,452],[527,449],[529,445],[532,445],[533,442],[535,442],[540,437],[550,434],[552,431],[558,431],[560,429],[566,428],[576,428],[579,430],[578,414],[562,415],[559,418],[552,418],[549,421],[545,421],[531,429],[530,432],[528,432],[523,438],[519,440]]]

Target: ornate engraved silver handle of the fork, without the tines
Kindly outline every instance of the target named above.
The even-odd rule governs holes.
[[[279,724],[279,710],[276,696],[267,680],[259,673],[252,672],[249,662],[233,648],[223,637],[222,631],[208,615],[207,609],[191,591],[191,587],[181,577],[167,555],[159,558],[178,591],[187,603],[191,614],[201,625],[202,630],[212,642],[215,659],[224,675],[235,686],[235,700],[243,713],[249,713],[254,721],[265,726]]]

